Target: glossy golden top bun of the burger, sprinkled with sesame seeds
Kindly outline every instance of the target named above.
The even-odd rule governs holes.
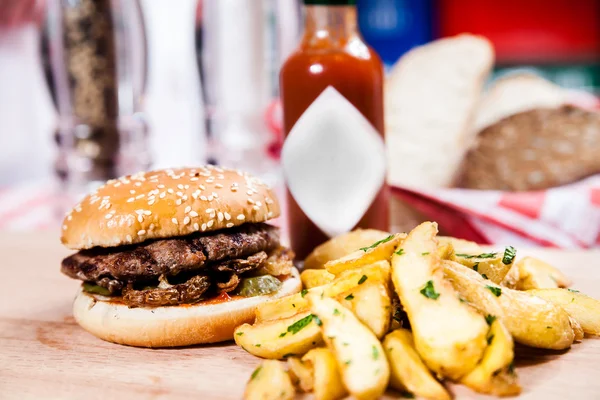
[[[271,188],[238,170],[140,172],[108,181],[73,207],[61,241],[74,250],[115,247],[264,222],[279,213]]]

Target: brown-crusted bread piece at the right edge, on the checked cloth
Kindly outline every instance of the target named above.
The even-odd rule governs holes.
[[[600,172],[600,113],[574,106],[521,112],[488,126],[457,186],[541,190]]]

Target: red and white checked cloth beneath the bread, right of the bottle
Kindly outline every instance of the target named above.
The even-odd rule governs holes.
[[[484,244],[600,246],[600,175],[535,192],[393,191],[452,236]]]

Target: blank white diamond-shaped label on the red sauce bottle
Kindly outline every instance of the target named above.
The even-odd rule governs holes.
[[[330,237],[356,226],[385,181],[383,139],[333,86],[298,119],[281,159],[292,196]]]

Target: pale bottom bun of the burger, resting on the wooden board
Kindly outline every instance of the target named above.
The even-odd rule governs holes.
[[[125,304],[97,300],[80,290],[73,316],[83,329],[109,342],[138,347],[176,347],[233,339],[239,325],[252,323],[256,306],[300,291],[298,270],[269,295],[217,304],[129,308]]]

